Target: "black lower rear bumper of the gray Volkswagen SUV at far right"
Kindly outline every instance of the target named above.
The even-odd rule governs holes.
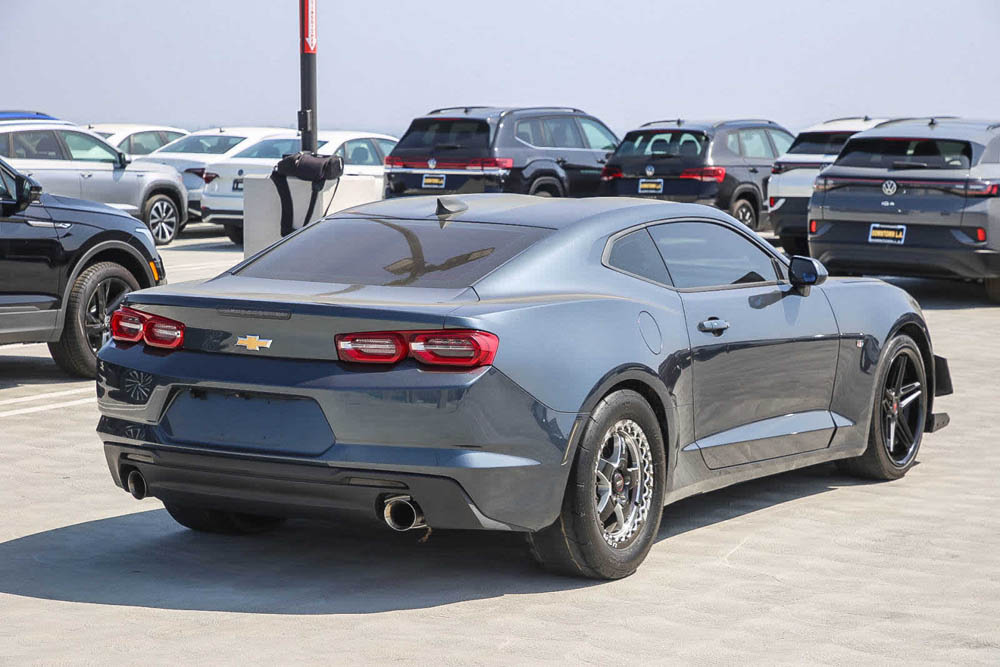
[[[821,222],[809,250],[836,271],[928,278],[1000,277],[1000,251],[973,242],[960,228],[907,225],[903,245],[869,243],[866,223]]]

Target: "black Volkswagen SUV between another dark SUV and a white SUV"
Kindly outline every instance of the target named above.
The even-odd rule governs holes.
[[[770,120],[653,121],[625,135],[601,192],[709,204],[761,229],[771,164],[793,140]]]

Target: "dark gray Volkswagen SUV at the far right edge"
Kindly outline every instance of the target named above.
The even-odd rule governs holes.
[[[816,178],[809,249],[833,271],[982,280],[1000,301],[1000,122],[855,134]]]

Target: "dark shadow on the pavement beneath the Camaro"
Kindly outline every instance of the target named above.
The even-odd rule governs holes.
[[[674,535],[856,483],[831,470],[785,473],[676,503],[667,508],[654,549],[669,549]],[[163,609],[346,614],[600,585],[540,570],[520,534],[436,531],[421,543],[422,532],[393,533],[352,516],[290,521],[264,535],[210,535],[185,530],[156,509],[0,544],[0,593]]]

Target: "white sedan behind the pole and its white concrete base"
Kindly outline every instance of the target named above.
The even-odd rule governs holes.
[[[323,131],[316,139],[318,154],[338,155],[344,160],[344,173],[327,212],[382,199],[385,156],[396,145],[395,137],[371,132]],[[233,243],[243,243],[243,179],[270,174],[278,160],[298,153],[301,144],[297,132],[283,132],[206,166],[201,219],[225,225],[226,235]]]

